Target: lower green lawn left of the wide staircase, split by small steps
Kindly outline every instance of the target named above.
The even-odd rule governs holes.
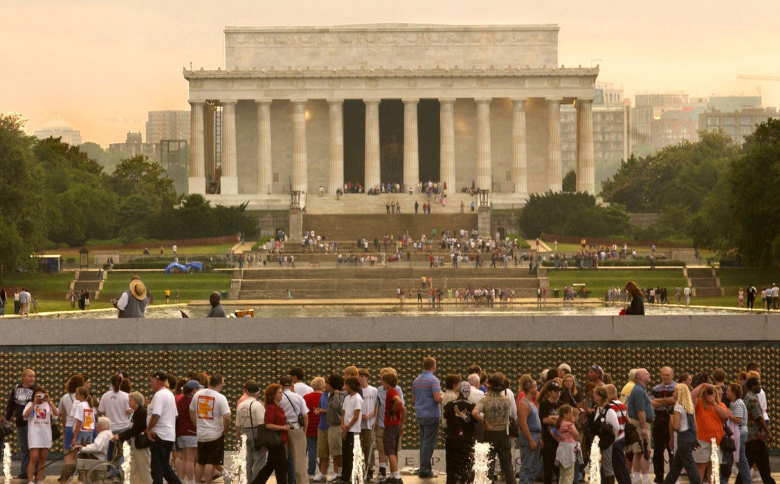
[[[211,291],[227,291],[230,288],[232,271],[206,272],[195,274],[163,274],[139,273],[141,280],[146,284],[147,290],[154,296],[154,303],[165,302],[165,288],[171,290],[171,299],[176,298],[176,290],[179,290],[179,302],[190,302],[192,299],[208,299]],[[128,287],[131,273],[108,274],[100,294],[99,301],[91,301],[91,309],[112,307],[111,299],[118,298]],[[60,311],[70,309],[70,302],[66,295],[73,281],[73,271],[65,271],[58,274],[23,273],[2,274],[0,285],[5,288],[9,299],[13,297],[13,289],[24,286],[30,290],[30,294],[37,297],[40,311]]]

